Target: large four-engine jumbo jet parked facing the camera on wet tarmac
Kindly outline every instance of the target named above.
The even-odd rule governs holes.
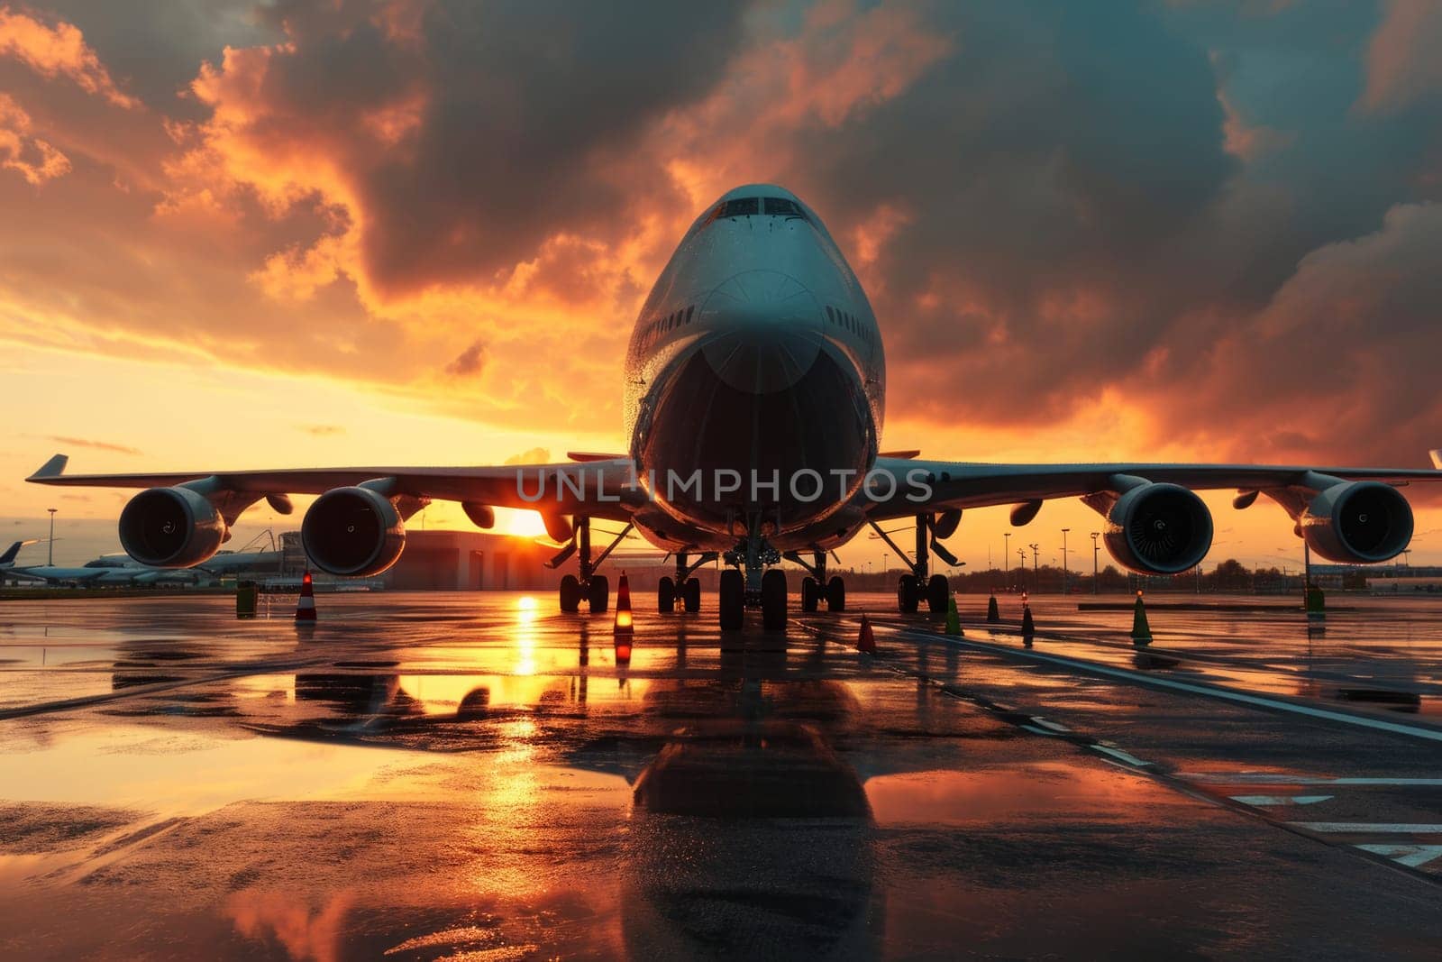
[[[570,462],[485,467],[336,467],[244,472],[66,475],[56,454],[27,480],[140,487],[121,511],[130,557],[190,567],[215,555],[242,511],[265,499],[288,513],[291,495],[319,495],[301,524],[311,562],[335,575],[375,575],[405,547],[405,521],[431,499],[460,502],[480,528],[493,508],[538,511],[577,557],[559,604],[604,612],[598,565],[633,528],[675,558],[658,607],[701,607],[692,577],[717,558],[718,614],[741,629],[747,609],[784,629],[784,558],[805,570],[800,607],[845,610],[831,552],[874,528],[908,571],[897,606],[945,610],[946,577],[930,557],[962,512],[1012,505],[1031,522],[1044,500],[1080,498],[1105,518],[1112,557],[1146,574],[1197,565],[1211,547],[1211,512],[1198,489],[1236,489],[1234,508],[1265,493],[1312,551],[1377,562],[1412,539],[1412,508],[1397,486],[1442,480],[1442,470],[1266,464],[992,464],[883,451],[885,358],[867,294],[820,216],[790,190],[746,185],[709,205],[681,239],[646,299],[624,362],[626,454],[572,453]],[[880,525],[914,526],[907,555]],[[591,522],[624,526],[593,551]]]

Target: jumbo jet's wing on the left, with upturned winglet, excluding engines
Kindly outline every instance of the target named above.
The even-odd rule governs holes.
[[[222,508],[228,521],[261,498],[271,499],[277,511],[288,513],[287,495],[322,495],[333,487],[368,482],[382,482],[388,492],[423,503],[444,499],[486,508],[584,513],[609,521],[629,521],[645,503],[645,490],[633,483],[627,459],[486,467],[381,466],[138,475],[66,475],[68,462],[65,454],[56,454],[26,480],[79,487],[200,485],[218,508],[221,502],[228,502]]]

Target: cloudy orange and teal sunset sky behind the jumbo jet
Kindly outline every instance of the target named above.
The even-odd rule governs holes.
[[[0,0],[0,515],[35,518],[7,529],[118,513],[25,485],[55,451],[624,450],[640,303],[757,180],[867,287],[885,449],[1442,447],[1442,3],[623,6]],[[1442,562],[1442,500],[1409,493],[1412,561]],[[1295,564],[1279,508],[1229,500],[1208,562]],[[1048,505],[1014,551],[1070,526],[1090,567],[1099,525]],[[985,565],[1004,528],[950,544]]]

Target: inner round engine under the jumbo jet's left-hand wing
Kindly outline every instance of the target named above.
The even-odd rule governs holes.
[[[300,544],[322,571],[381,574],[405,548],[405,522],[388,498],[368,487],[335,487],[306,512]]]

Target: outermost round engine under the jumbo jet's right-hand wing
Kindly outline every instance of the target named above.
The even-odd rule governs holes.
[[[1386,561],[1412,541],[1412,505],[1392,485],[1347,482],[1318,492],[1296,526],[1308,547],[1328,561]]]

